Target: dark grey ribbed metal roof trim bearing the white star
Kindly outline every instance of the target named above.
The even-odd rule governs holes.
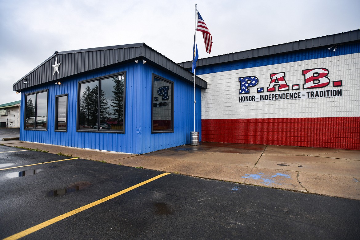
[[[55,52],[55,54],[13,84],[13,90],[21,91],[25,88],[82,74],[86,71],[96,70],[117,63],[128,63],[138,58],[146,60],[147,64],[193,83],[194,75],[191,72],[146,44],[136,43]],[[55,59],[58,63],[61,62],[61,64],[59,65],[59,73],[55,72],[53,74],[54,68],[52,65],[54,65]],[[24,78],[27,79],[26,84],[24,84]],[[200,88],[206,88],[207,82],[196,77],[196,85]]]

